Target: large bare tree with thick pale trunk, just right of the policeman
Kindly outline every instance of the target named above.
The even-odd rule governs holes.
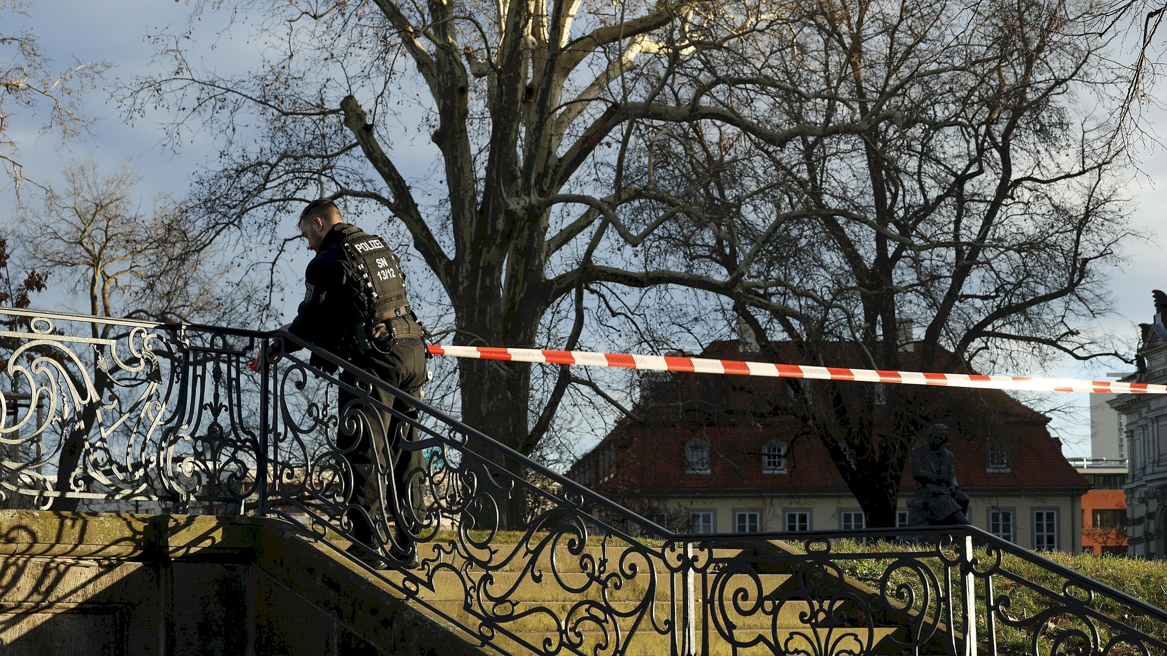
[[[775,114],[785,95],[833,93],[817,78],[791,85],[770,65],[801,6],[300,0],[256,15],[201,4],[208,16],[252,13],[263,67],[217,75],[186,51],[189,35],[160,35],[163,72],[121,99],[131,114],[173,107],[175,144],[221,138],[197,203],[210,226],[258,225],[253,235],[275,243],[302,201],[371,202],[407,230],[445,296],[432,302],[453,310],[456,343],[530,347],[554,303],[582,307],[592,282],[637,273],[624,246],[691,211],[700,218],[651,176],[624,176],[651,163],[664,126],[733,126],[782,147],[917,120],[878,100],[830,123]],[[910,79],[934,75],[916,69]],[[438,182],[415,161],[419,134],[435,146]],[[642,225],[626,223],[643,212]],[[575,319],[555,347],[575,344]],[[533,407],[526,365],[463,361],[460,379],[463,420],[527,453],[572,381],[560,374]]]

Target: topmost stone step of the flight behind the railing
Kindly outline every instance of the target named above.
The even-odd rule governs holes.
[[[462,545],[460,547],[464,549]],[[665,563],[658,556],[645,557],[643,552],[626,546],[585,546],[580,553],[572,553],[566,547],[559,546],[540,550],[538,558],[534,558],[533,554],[526,551],[526,545],[502,544],[491,545],[491,549],[495,550],[492,554],[485,550],[475,550],[474,556],[480,560],[487,560],[491,565],[498,566],[499,571],[504,572],[522,571],[523,568],[531,567],[532,559],[534,560],[534,567],[543,568],[545,572],[550,571],[552,554],[554,554],[555,571],[558,572],[582,572],[585,567],[588,571],[594,571],[594,568],[601,566],[605,567],[605,571],[610,572],[619,570],[622,564],[626,566],[635,564],[643,568],[648,563],[651,563],[659,573],[664,573],[668,570]],[[418,559],[425,563],[443,563],[461,567],[466,563],[466,558],[459,553],[449,553],[449,543],[422,543],[418,545]],[[739,554],[741,554],[741,550],[738,549],[713,550],[714,558],[734,558]],[[698,565],[700,566],[701,564],[701,560],[698,560]]]

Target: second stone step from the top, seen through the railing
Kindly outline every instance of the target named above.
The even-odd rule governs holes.
[[[414,571],[413,575],[429,581],[429,586],[421,586],[418,591],[418,596],[427,601],[461,601],[467,595],[467,588],[474,585],[484,586],[481,593],[483,600],[488,599],[488,594],[504,596],[506,600],[527,602],[576,601],[581,599],[601,600],[606,595],[607,600],[613,602],[636,602],[644,599],[648,594],[651,580],[644,572],[640,572],[631,578],[624,578],[619,573],[601,577],[601,580],[607,581],[607,585],[594,580],[589,574],[579,572],[553,573],[544,571],[540,580],[536,580],[531,572],[488,573],[470,571],[462,573],[445,568],[434,572],[432,575],[425,571]],[[386,577],[394,581],[406,578],[400,572],[386,572]],[[790,575],[759,574],[759,578],[763,589],[769,593],[789,580]],[[668,575],[658,574],[656,577],[655,592],[655,598],[658,601],[668,601],[670,599],[672,589]],[[696,599],[700,599],[700,589],[697,591]]]

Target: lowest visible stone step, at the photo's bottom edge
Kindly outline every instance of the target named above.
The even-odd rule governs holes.
[[[771,643],[776,643],[785,654],[899,654],[899,650],[890,648],[875,651],[874,645],[885,636],[901,629],[876,628],[820,628],[820,629],[777,629],[777,630],[738,630],[734,633],[736,648],[725,641],[725,638],[713,631],[708,634],[708,656],[762,656],[773,655],[775,650],[764,643],[750,647],[741,647],[750,640],[764,636]],[[515,637],[540,648],[540,651],[554,651],[555,647],[564,645],[560,654],[571,654],[566,649],[565,640],[559,633],[551,631],[513,631]],[[613,633],[601,630],[588,630],[580,633],[568,633],[566,636],[568,644],[579,654],[612,654],[613,642],[616,636]],[[651,627],[638,628],[630,638],[627,634],[620,635],[621,645],[627,644],[627,651],[621,651],[627,656],[658,656],[671,652],[673,637],[661,635]],[[698,644],[705,637],[698,633]],[[627,642],[626,642],[627,641]],[[513,644],[515,641],[504,634],[496,634],[494,641],[503,649]],[[551,649],[546,649],[547,645]],[[515,652],[525,652],[526,649],[515,645]]]

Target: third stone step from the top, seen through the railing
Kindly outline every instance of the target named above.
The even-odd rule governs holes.
[[[515,605],[485,605],[484,609],[478,608],[477,605],[474,608],[477,612],[471,613],[466,608],[462,601],[427,601],[426,606],[435,608],[453,619],[460,624],[468,627],[476,627],[482,621],[480,615],[485,612],[490,614],[501,626],[506,626],[510,630],[524,630],[524,631],[555,631],[559,623],[565,619],[572,626],[586,626],[586,622],[580,622],[582,617],[586,617],[588,612],[599,610],[600,608],[610,609],[617,614],[623,614],[620,624],[622,627],[630,626],[637,617],[628,616],[631,613],[636,613],[640,608],[640,603],[635,601],[615,601],[605,605],[603,607],[589,607],[586,603],[580,603],[576,601],[545,601],[545,602],[533,602],[533,601],[522,601]],[[819,609],[822,606],[816,605],[815,609]],[[677,609],[677,617],[682,616],[680,608]],[[731,608],[726,608],[731,610]],[[665,620],[672,617],[670,613],[668,601],[654,602],[650,609],[652,615],[657,620],[657,626],[662,626]],[[780,628],[802,628],[805,623],[802,621],[802,615],[811,616],[812,608],[806,601],[787,601],[778,608],[777,619],[771,615],[757,613],[749,616],[731,615],[728,619],[736,627],[742,629],[763,629],[768,628],[776,622]],[[571,613],[571,615],[568,615]],[[697,609],[698,613],[698,626],[703,624],[700,617],[700,607]],[[506,617],[518,619],[506,621]],[[823,623],[825,620],[830,619],[830,615],[825,615],[822,612],[815,614],[815,617]],[[725,622],[726,619],[719,620]],[[643,615],[641,619],[642,623],[649,621],[648,614]]]

